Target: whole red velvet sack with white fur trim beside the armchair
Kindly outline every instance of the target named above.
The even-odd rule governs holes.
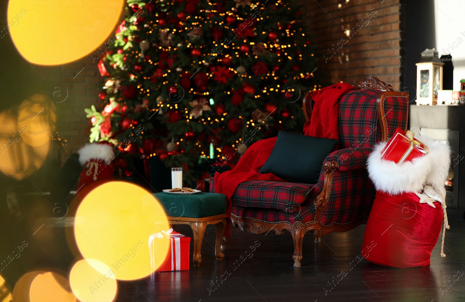
[[[377,192],[361,255],[372,263],[399,268],[430,264],[445,213],[450,150],[439,141],[419,140],[429,152],[412,161],[396,164],[381,159],[386,143],[375,147],[368,158],[368,174]],[[445,256],[442,250],[441,256]]]

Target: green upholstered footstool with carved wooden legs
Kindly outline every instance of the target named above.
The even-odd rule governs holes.
[[[195,193],[176,196],[166,192],[152,194],[165,209],[170,224],[189,224],[194,235],[194,265],[202,262],[200,248],[208,224],[216,225],[215,256],[223,259],[221,240],[226,229],[226,195]]]

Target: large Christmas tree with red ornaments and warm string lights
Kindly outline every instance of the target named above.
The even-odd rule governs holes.
[[[93,58],[103,90],[86,109],[91,142],[174,167],[301,132],[303,94],[319,86],[291,3],[128,0],[126,14]]]

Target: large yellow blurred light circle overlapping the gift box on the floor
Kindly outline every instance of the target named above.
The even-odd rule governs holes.
[[[105,263],[116,279],[134,280],[150,275],[164,261],[170,241],[155,240],[158,256],[152,269],[148,238],[168,229],[165,211],[153,195],[135,184],[115,181],[83,199],[76,211],[74,236],[84,258]]]

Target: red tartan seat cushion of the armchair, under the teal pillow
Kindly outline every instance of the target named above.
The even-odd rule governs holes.
[[[314,186],[314,184],[250,180],[239,184],[233,195],[233,204],[274,208],[291,213],[299,210],[299,206],[312,196]]]

